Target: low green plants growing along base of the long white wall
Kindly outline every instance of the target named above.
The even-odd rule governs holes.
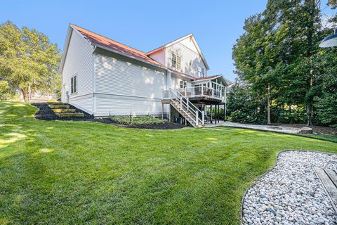
[[[140,125],[140,124],[161,124],[168,122],[167,120],[161,120],[152,116],[139,116],[139,117],[130,117],[124,115],[111,115],[110,120],[116,122],[117,124],[126,124],[126,125]]]

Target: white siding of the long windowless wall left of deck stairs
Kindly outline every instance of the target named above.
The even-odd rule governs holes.
[[[95,54],[95,116],[161,114],[164,72]]]

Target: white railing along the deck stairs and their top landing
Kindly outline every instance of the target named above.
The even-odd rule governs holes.
[[[180,93],[179,89],[169,89],[163,91],[163,97],[169,98],[172,101],[175,101],[180,105],[180,110],[182,110],[184,113],[189,115],[190,120],[195,123],[196,126],[199,124],[204,125],[204,112],[201,112],[197,106],[193,105],[188,98],[183,96],[183,94]],[[199,115],[201,115],[201,118],[199,118]]]

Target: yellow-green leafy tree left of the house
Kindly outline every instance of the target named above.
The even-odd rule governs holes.
[[[45,34],[19,29],[10,21],[0,25],[0,98],[20,91],[25,101],[31,93],[53,93],[60,51]]]

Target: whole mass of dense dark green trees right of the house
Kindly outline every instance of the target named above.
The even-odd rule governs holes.
[[[336,1],[329,5],[337,6]],[[247,101],[255,102],[250,114],[259,109],[265,115],[258,122],[269,122],[270,108],[272,122],[337,124],[333,119],[337,111],[331,106],[337,84],[336,63],[331,65],[336,50],[319,49],[319,42],[331,32],[321,18],[317,0],[269,0],[265,11],[246,19],[245,32],[232,54],[239,83],[245,86],[233,89],[230,95],[246,89],[251,96]],[[329,22],[334,21],[336,16]],[[235,117],[240,112],[247,114],[244,105],[228,106]]]

